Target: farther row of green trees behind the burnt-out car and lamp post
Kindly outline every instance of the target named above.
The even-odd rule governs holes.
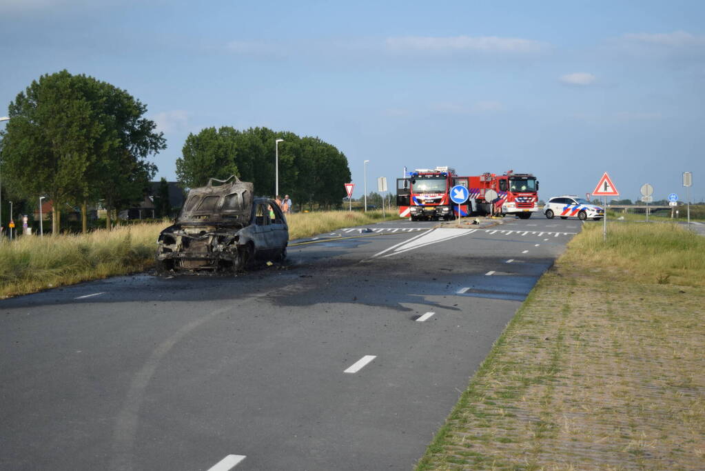
[[[283,139],[278,145],[281,196],[288,194],[298,204],[340,206],[346,195],[344,183],[350,182],[348,159],[318,137],[268,128],[205,128],[186,138],[183,157],[176,160],[176,175],[185,188],[195,188],[209,178],[234,174],[254,183],[258,195],[274,196],[277,139]]]

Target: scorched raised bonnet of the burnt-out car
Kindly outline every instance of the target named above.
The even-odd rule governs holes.
[[[214,185],[214,182],[221,183]],[[252,212],[254,185],[236,176],[227,180],[210,178],[208,184],[191,188],[181,208],[178,224],[248,224]]]

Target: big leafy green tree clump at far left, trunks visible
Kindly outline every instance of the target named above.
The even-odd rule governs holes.
[[[157,166],[149,154],[166,148],[147,106],[107,82],[61,71],[42,75],[8,106],[0,134],[4,189],[16,197],[46,195],[53,231],[61,208],[101,200],[111,210],[142,200]]]

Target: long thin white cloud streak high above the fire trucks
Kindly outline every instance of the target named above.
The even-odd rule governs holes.
[[[535,54],[546,49],[546,44],[533,39],[496,36],[405,36],[386,39],[386,48],[392,52],[422,52],[452,54],[473,52],[487,54]]]

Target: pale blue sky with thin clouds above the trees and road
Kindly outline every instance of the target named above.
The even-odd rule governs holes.
[[[267,126],[336,145],[355,197],[369,159],[369,190],[448,165],[685,200],[692,171],[705,199],[702,1],[0,0],[0,115],[63,68],[149,106],[169,180],[188,133]]]

